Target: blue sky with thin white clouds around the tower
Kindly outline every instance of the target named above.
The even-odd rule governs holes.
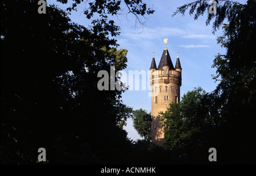
[[[167,48],[172,63],[175,65],[177,52],[179,52],[182,67],[182,86],[180,87],[181,97],[194,87],[202,87],[205,91],[213,91],[217,85],[211,77],[216,69],[211,68],[214,56],[217,53],[225,54],[225,49],[217,44],[217,36],[222,35],[218,30],[215,35],[212,33],[212,26],[205,26],[207,15],[200,16],[193,20],[193,16],[177,14],[172,17],[176,8],[190,3],[191,1],[168,1],[151,0],[144,1],[148,7],[155,10],[149,17],[146,26],[135,25],[135,18],[132,14],[113,16],[115,23],[121,27],[121,34],[115,39],[118,40],[118,49],[124,48],[127,53],[127,68],[129,70],[149,70],[152,60],[152,52],[155,52],[155,61],[158,66],[164,49],[164,38],[168,38]],[[246,1],[240,1],[245,3]],[[56,1],[47,3],[58,5],[61,9],[67,7]],[[69,3],[70,5],[71,3]],[[72,12],[70,18],[73,22],[88,26],[90,20],[83,14],[85,4],[77,6],[77,12]],[[127,7],[123,6],[125,12]],[[142,80],[141,80],[142,81]],[[149,80],[147,80],[149,81]],[[142,108],[147,112],[151,111],[151,97],[148,97],[148,90],[127,90],[122,94],[123,103],[137,110]],[[132,120],[127,120],[125,127],[128,137],[133,140],[142,139],[133,128]]]

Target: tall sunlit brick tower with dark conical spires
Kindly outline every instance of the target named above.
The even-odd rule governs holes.
[[[165,112],[171,102],[178,103],[180,101],[181,65],[179,53],[177,53],[174,68],[166,45],[167,39],[164,39],[164,43],[165,47],[158,68],[156,68],[154,53],[150,67],[150,83],[152,86],[151,140],[156,145],[162,145],[164,140],[163,127],[160,124],[161,117],[158,113],[160,111]]]

